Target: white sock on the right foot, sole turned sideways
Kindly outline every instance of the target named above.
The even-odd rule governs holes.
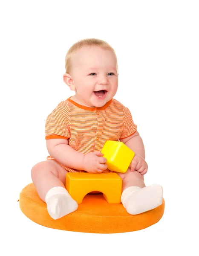
[[[128,213],[132,215],[147,212],[162,204],[163,189],[160,185],[144,188],[131,186],[121,195],[121,202]]]

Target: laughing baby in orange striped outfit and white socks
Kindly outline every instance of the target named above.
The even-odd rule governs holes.
[[[46,120],[46,161],[31,170],[39,197],[53,219],[74,212],[78,204],[65,188],[67,172],[106,173],[101,149],[107,140],[121,141],[135,152],[122,179],[121,203],[132,215],[162,204],[160,185],[145,186],[143,141],[128,108],[113,99],[118,89],[114,49],[98,39],[84,39],[66,54],[63,81],[75,95],[62,101]]]

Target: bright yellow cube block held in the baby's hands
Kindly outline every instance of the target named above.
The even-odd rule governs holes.
[[[135,153],[121,141],[107,140],[101,150],[110,171],[127,172]]]

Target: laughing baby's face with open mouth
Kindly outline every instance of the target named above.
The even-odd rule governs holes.
[[[71,60],[75,96],[88,107],[102,107],[118,89],[117,60],[109,49],[82,47]]]

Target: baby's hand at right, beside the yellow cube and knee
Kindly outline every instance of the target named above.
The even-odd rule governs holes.
[[[147,165],[147,162],[144,160],[144,158],[141,155],[135,154],[132,162],[130,163],[129,168],[130,168],[131,172],[137,171],[141,175],[144,175],[147,173],[148,165]]]

